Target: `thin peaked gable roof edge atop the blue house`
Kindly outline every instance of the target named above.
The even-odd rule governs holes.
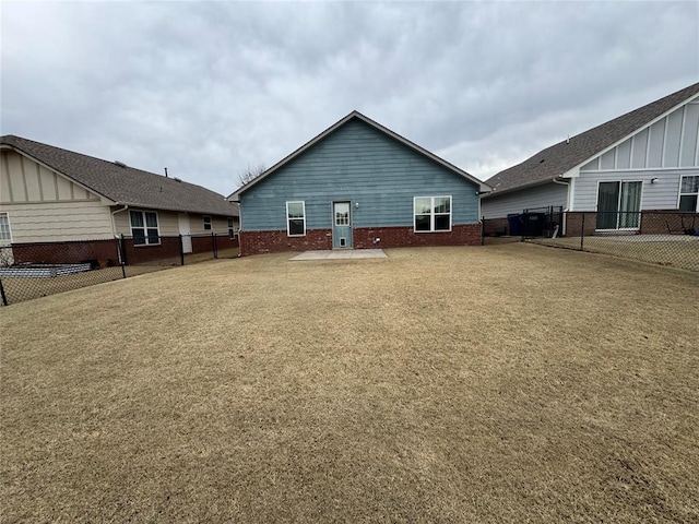
[[[355,110],[355,111],[352,111],[346,117],[344,117],[343,119],[341,119],[340,121],[335,122],[333,126],[328,128],[325,131],[323,131],[322,133],[320,133],[316,138],[313,138],[313,139],[309,140],[308,142],[306,142],[298,150],[296,150],[295,152],[293,152],[292,154],[289,154],[288,156],[286,156],[282,160],[277,162],[275,165],[270,167],[268,170],[265,170],[265,171],[261,172],[260,175],[258,175],[256,178],[250,180],[245,186],[238,188],[236,191],[234,191],[233,193],[230,193],[228,195],[228,200],[234,201],[234,202],[237,201],[238,196],[241,193],[244,193],[245,191],[247,191],[248,189],[250,189],[254,184],[261,182],[262,180],[264,180],[269,176],[273,175],[277,169],[280,169],[281,167],[285,166],[286,164],[292,162],[294,158],[296,158],[297,156],[301,155],[304,152],[306,152],[309,148],[311,148],[318,142],[322,141],[324,138],[327,138],[331,133],[335,132],[337,129],[342,128],[344,124],[346,124],[351,120],[355,120],[355,119],[365,122],[366,124],[372,127],[374,129],[376,129],[376,130],[378,130],[378,131],[391,136],[392,139],[396,140],[401,144],[406,145],[411,150],[419,153],[420,155],[426,156],[427,158],[431,159],[433,162],[436,162],[437,164],[439,164],[439,165],[446,167],[447,169],[453,171],[454,174],[457,174],[457,175],[459,175],[459,176],[472,181],[473,183],[478,186],[478,191],[483,191],[483,192],[490,191],[490,188],[486,183],[484,183],[482,180],[478,180],[473,175],[467,174],[463,169],[458,168],[453,164],[450,164],[449,162],[445,160],[443,158],[440,158],[439,156],[435,155],[434,153],[430,153],[429,151],[425,150],[424,147],[420,147],[419,145],[411,142],[410,140],[401,136],[400,134],[395,133],[394,131],[391,131],[390,129],[381,126],[380,123],[371,120],[368,117],[365,117],[359,111]]]

